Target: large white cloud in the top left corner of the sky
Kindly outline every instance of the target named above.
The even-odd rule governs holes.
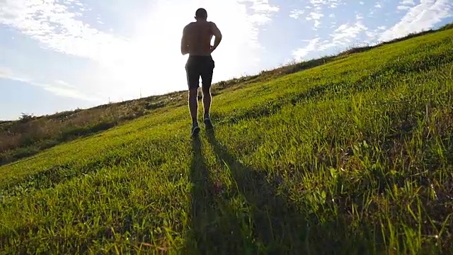
[[[91,28],[79,20],[81,13],[70,11],[70,6],[85,10],[78,0],[3,0],[0,23],[16,28],[40,42],[42,47],[68,55],[96,61],[111,61],[111,53],[127,45],[125,38],[117,38]],[[83,12],[83,11],[82,11]]]

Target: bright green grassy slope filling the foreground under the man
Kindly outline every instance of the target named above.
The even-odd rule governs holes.
[[[0,251],[453,251],[452,38],[248,78],[199,139],[181,98],[0,166]]]

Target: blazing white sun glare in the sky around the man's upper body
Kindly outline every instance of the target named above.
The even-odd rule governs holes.
[[[175,7],[178,6],[178,7]],[[183,27],[195,21],[195,10],[204,7],[208,21],[222,31],[223,40],[213,52],[213,82],[238,77],[257,66],[257,33],[248,20],[246,6],[236,1],[156,1],[147,16],[135,18],[133,37],[115,49],[115,57],[102,64],[97,81],[103,98],[125,100],[187,89],[185,61],[180,54]],[[134,17],[131,17],[134,18]]]

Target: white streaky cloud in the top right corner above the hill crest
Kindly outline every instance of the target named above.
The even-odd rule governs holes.
[[[413,1],[403,1],[413,4]],[[411,7],[400,22],[384,31],[379,40],[386,41],[399,38],[408,33],[420,32],[432,28],[443,18],[452,16],[452,3],[449,0],[421,0],[420,4]]]

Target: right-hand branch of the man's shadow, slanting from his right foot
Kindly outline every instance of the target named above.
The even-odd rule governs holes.
[[[238,243],[241,239],[246,239],[246,243],[235,247],[231,254],[299,254],[304,251],[302,243],[308,238],[306,217],[297,212],[293,203],[277,194],[277,181],[270,183],[263,172],[236,160],[217,142],[213,131],[206,134],[214,153],[226,166],[224,169],[231,172],[236,186],[231,192],[246,201],[246,205],[240,207],[243,212],[236,212],[242,232],[235,236]]]

